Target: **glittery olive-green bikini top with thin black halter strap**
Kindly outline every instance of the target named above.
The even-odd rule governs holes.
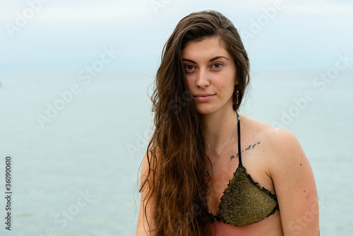
[[[240,118],[238,119],[238,150],[239,166],[234,177],[229,180],[227,189],[221,197],[217,216],[210,213],[211,222],[214,218],[223,223],[235,226],[249,225],[271,216],[278,209],[277,196],[268,189],[253,182],[246,169],[241,164],[240,148]]]

